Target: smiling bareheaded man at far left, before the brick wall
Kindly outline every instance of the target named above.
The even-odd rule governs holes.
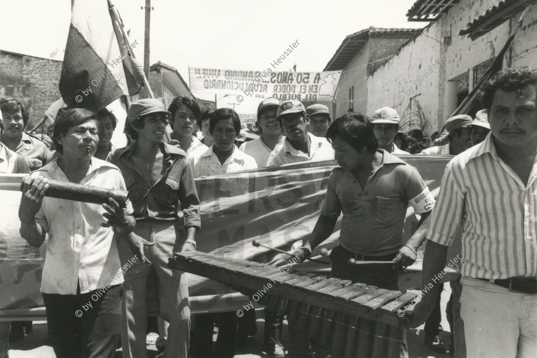
[[[31,170],[45,165],[50,155],[47,146],[37,136],[24,131],[30,118],[26,105],[18,99],[3,98],[0,99],[0,111],[5,129],[0,141],[12,151],[23,155]]]

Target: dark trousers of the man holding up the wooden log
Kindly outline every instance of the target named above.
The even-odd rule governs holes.
[[[122,295],[121,284],[85,294],[80,293],[80,287],[76,295],[43,294],[56,357],[113,358]]]

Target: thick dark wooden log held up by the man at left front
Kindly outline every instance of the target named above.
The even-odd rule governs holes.
[[[0,190],[21,192],[25,176],[26,174],[1,174]],[[127,206],[128,192],[72,182],[48,180],[48,190],[45,196],[93,204],[110,204],[108,198],[112,198],[118,202],[120,207],[125,208]]]

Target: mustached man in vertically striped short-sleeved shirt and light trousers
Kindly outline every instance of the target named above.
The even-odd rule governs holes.
[[[423,285],[429,289],[413,325],[436,303],[447,245],[462,225],[461,317],[468,357],[534,357],[537,72],[498,72],[485,84],[482,102],[491,133],[446,166],[427,231]]]

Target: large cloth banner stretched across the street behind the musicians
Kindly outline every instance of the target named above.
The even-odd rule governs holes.
[[[433,193],[440,186],[451,157],[403,156],[415,166]],[[326,195],[334,160],[263,168],[218,177],[196,179],[201,202],[201,229],[196,233],[198,251],[267,262],[274,253],[252,246],[253,239],[282,250],[306,240],[317,221]],[[19,235],[20,193],[0,191],[0,310],[42,306],[39,291],[45,260],[45,244],[36,249]],[[404,240],[410,237],[416,218],[407,210]],[[320,247],[337,245],[340,224]],[[302,265],[302,264],[301,264]],[[232,292],[215,281],[190,275],[191,296]],[[151,296],[151,295],[149,295]]]

